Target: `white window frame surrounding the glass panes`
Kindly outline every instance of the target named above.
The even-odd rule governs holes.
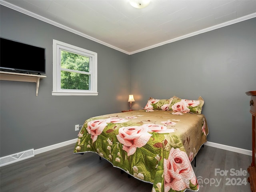
[[[74,45],[70,45],[58,40],[53,40],[53,54],[52,54],[52,66],[53,66],[53,86],[52,95],[98,95],[97,92],[97,53],[84,48],[80,48]],[[61,89],[60,88],[60,62],[61,62],[61,50],[72,52],[74,54],[80,54],[90,58],[89,73],[90,83],[89,90],[73,90],[73,89]]]

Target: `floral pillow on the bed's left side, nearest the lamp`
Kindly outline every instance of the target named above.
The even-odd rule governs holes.
[[[152,109],[161,109],[161,110],[169,110],[169,106],[172,102],[172,98],[170,99],[154,99],[150,97],[146,106],[142,109],[152,110]]]

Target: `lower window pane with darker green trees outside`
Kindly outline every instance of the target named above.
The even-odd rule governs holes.
[[[61,71],[60,75],[61,89],[89,90],[90,75],[68,71]]]

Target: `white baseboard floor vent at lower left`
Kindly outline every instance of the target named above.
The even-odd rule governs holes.
[[[0,167],[8,165],[8,164],[12,164],[30,157],[34,157],[34,149],[30,149],[30,150],[26,150],[23,152],[19,152],[16,154],[12,154],[12,155],[8,155],[8,156],[4,156],[0,158]]]

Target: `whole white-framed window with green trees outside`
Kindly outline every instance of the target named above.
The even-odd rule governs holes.
[[[53,40],[52,95],[98,95],[97,53]]]

